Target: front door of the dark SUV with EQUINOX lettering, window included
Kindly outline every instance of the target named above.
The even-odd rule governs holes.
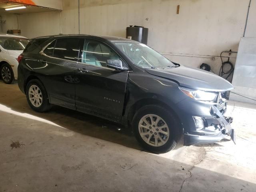
[[[76,64],[76,108],[118,122],[122,117],[128,72],[107,67],[108,59],[122,60],[104,42],[85,40]],[[122,63],[126,66],[124,60]]]

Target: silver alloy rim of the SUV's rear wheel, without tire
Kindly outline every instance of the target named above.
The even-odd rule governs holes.
[[[40,107],[43,102],[42,92],[40,88],[36,85],[30,86],[28,90],[28,98],[31,104],[35,107]]]

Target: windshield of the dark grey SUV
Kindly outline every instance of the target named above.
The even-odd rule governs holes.
[[[140,42],[113,42],[134,64],[143,68],[165,69],[175,65],[152,48]]]

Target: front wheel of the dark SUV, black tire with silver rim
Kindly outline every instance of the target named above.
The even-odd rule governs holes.
[[[152,114],[152,117],[150,117],[150,114]],[[142,118],[144,118],[144,120],[142,120]],[[153,119],[153,124],[150,124],[151,119]],[[148,125],[146,125],[145,120],[148,121]],[[155,122],[158,122],[158,124],[156,123],[154,125]],[[166,153],[175,148],[180,138],[180,125],[180,122],[172,112],[158,105],[147,105],[140,108],[135,113],[132,120],[132,128],[140,145],[146,150],[156,154]],[[147,128],[145,128],[145,126]],[[162,133],[163,131],[164,134]],[[141,134],[145,135],[141,136]],[[149,136],[151,137],[149,142],[147,142]],[[157,142],[155,140],[155,136],[157,138]],[[160,140],[160,137],[162,140]]]

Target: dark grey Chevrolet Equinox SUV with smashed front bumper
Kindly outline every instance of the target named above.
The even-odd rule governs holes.
[[[30,40],[18,85],[37,112],[64,106],[132,127],[149,151],[234,140],[223,78],[171,62],[133,40],[58,35]]]

